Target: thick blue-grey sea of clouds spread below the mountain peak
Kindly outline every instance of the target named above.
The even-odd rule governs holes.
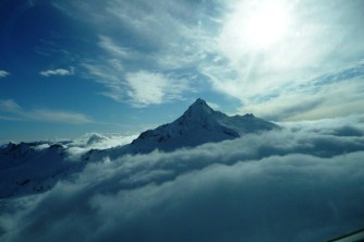
[[[364,227],[364,116],[281,125],[89,162],[46,193],[1,201],[0,240],[304,242]]]

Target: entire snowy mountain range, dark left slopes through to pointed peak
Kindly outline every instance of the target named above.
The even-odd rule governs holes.
[[[92,149],[105,140],[98,135],[92,135],[85,146],[72,142],[9,143],[0,147],[0,198],[47,191],[59,180],[72,178],[87,162],[104,158],[155,149],[171,152],[274,129],[279,126],[253,114],[229,117],[215,111],[198,98],[175,121],[145,131],[128,145]]]

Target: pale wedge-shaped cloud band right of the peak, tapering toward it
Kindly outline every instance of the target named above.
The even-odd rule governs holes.
[[[301,89],[281,90],[277,96],[246,104],[240,111],[252,111],[270,120],[315,120],[361,113],[363,88],[361,76],[319,85],[307,82]]]

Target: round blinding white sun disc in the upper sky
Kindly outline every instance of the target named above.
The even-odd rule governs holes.
[[[278,4],[259,5],[245,25],[245,36],[258,48],[267,48],[281,40],[288,31],[288,12]]]

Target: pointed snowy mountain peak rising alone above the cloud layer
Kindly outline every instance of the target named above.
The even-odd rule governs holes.
[[[153,149],[170,152],[180,147],[193,147],[208,142],[221,142],[247,133],[269,131],[279,126],[253,114],[229,117],[211,109],[198,98],[175,121],[143,132],[131,144],[133,152]]]

